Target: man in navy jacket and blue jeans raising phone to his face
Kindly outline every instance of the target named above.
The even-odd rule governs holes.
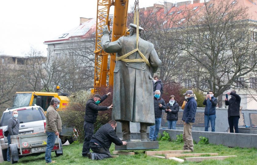
[[[206,98],[203,101],[205,105],[204,110],[204,131],[209,131],[209,123],[211,125],[211,132],[215,132],[215,119],[216,119],[216,105],[218,99],[214,97],[213,90],[209,90],[209,94],[206,95]]]

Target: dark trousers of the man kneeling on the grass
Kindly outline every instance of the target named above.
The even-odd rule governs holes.
[[[102,160],[112,157],[110,151],[107,151],[102,146],[96,145],[93,142],[90,143],[90,148],[94,152],[95,160]]]

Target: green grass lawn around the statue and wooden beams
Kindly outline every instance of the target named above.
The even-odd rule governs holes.
[[[159,141],[159,149],[158,150],[181,150],[183,144],[177,142],[168,142],[168,141]],[[136,150],[134,156],[119,156],[116,158],[109,158],[105,160],[89,160],[88,158],[84,158],[81,155],[82,144],[81,143],[73,143],[71,145],[63,146],[63,156],[55,157],[55,153],[52,152],[52,160],[57,161],[54,163],[56,165],[65,165],[65,164],[101,164],[101,165],[109,165],[109,164],[140,164],[140,165],[160,165],[160,164],[244,164],[251,165],[257,164],[257,149],[248,149],[248,148],[228,148],[223,145],[200,145],[196,144],[194,146],[193,153],[214,153],[217,152],[218,156],[228,156],[228,155],[236,155],[237,157],[228,158],[226,160],[207,160],[200,163],[194,162],[184,162],[178,163],[173,160],[160,159],[151,156],[146,156],[143,150]],[[112,144],[110,148],[110,152],[114,151],[114,144]],[[32,155],[32,156],[24,156],[21,157],[17,164],[33,164],[40,165],[45,164],[44,159],[45,154],[42,153],[40,155]],[[180,157],[183,159],[183,157]],[[2,164],[11,164],[9,162],[3,162]]]

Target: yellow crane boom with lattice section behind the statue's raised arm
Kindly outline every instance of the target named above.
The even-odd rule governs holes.
[[[102,31],[105,25],[110,29],[109,12],[110,6],[114,5],[113,28],[112,28],[112,42],[119,39],[126,34],[127,14],[128,14],[128,0],[98,0],[97,1],[97,20],[96,20],[96,39],[95,39],[95,74],[94,74],[94,89],[95,92],[98,87],[106,86],[107,73],[109,75],[109,86],[113,86],[114,82],[114,67],[116,54],[110,54],[110,70],[108,66],[108,55],[102,50],[101,38]]]

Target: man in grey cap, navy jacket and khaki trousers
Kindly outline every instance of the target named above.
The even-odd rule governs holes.
[[[192,138],[192,127],[193,123],[195,123],[196,119],[196,96],[194,95],[192,90],[187,90],[184,93],[185,99],[188,99],[187,104],[185,105],[182,120],[184,121],[184,129],[183,129],[183,140],[184,147],[183,150],[190,149],[194,151],[194,143]]]

